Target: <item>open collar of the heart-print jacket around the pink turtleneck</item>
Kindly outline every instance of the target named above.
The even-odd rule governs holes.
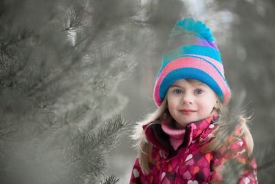
[[[214,114],[201,121],[188,123],[188,125],[186,125],[185,127],[186,134],[184,137],[184,142],[179,146],[179,148],[183,146],[188,147],[191,143],[197,141],[197,139],[199,139],[203,132],[205,132],[205,130],[209,127],[210,123],[216,120],[217,117],[218,115]],[[173,147],[170,145],[169,142],[169,136],[168,134],[163,132],[161,123],[150,122],[146,125],[143,125],[142,127],[145,132],[146,138],[155,147],[158,147],[159,149],[164,151],[173,150]],[[208,134],[209,133],[210,132],[208,132]]]

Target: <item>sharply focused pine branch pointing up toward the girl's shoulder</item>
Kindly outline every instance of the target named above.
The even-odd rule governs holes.
[[[122,119],[122,116],[118,115],[99,127],[98,130],[95,130],[95,132],[98,132],[96,134],[89,133],[89,130],[78,133],[74,138],[76,143],[66,147],[64,154],[65,161],[69,161],[67,166],[72,180],[90,174],[102,174],[105,167],[104,152],[109,150],[115,141],[115,137],[118,136],[125,125],[126,122]]]

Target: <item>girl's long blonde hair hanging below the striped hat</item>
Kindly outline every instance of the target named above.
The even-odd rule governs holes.
[[[186,81],[188,81],[188,83],[204,85],[204,83],[193,79],[187,79]],[[234,132],[234,127],[237,125],[237,123],[239,123],[239,125],[241,125],[240,136],[245,137],[248,146],[248,154],[252,154],[254,143],[247,125],[250,118],[245,117],[243,114],[234,115],[230,110],[228,110],[227,107],[223,107],[223,105],[221,105],[220,100],[218,100],[218,102],[219,108],[215,110],[219,114],[219,119],[217,122],[215,122],[217,123],[217,128],[213,132],[214,138],[210,141],[210,143],[206,144],[206,146],[202,146],[201,151],[211,152],[219,150],[219,148],[225,143],[226,138]],[[168,101],[167,96],[165,96],[162,105],[160,105],[160,107],[157,108],[155,112],[147,114],[143,121],[137,122],[137,125],[135,125],[132,139],[137,141],[137,143],[135,144],[138,150],[137,157],[139,158],[140,167],[142,168],[142,172],[144,172],[144,174],[150,173],[150,168],[148,164],[153,163],[153,159],[151,158],[151,150],[153,145],[151,145],[151,143],[149,143],[146,139],[146,135],[142,126],[150,122],[161,123],[164,114],[169,115],[167,107]]]

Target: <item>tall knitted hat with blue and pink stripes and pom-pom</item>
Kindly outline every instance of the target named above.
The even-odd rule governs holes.
[[[223,105],[230,101],[230,88],[225,80],[223,63],[214,37],[206,24],[186,18],[177,21],[170,32],[168,50],[162,56],[155,81],[154,100],[162,104],[170,85],[179,79],[197,79],[217,93]]]

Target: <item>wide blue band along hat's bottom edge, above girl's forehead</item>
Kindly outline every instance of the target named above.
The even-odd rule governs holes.
[[[216,83],[216,81],[214,81],[214,79],[209,74],[197,68],[178,68],[169,72],[159,86],[159,98],[162,101],[164,100],[170,85],[179,79],[196,79],[206,83],[206,85],[208,85],[214,92],[217,93],[221,101],[224,101],[223,92],[221,91],[221,88],[219,88],[219,85]]]

